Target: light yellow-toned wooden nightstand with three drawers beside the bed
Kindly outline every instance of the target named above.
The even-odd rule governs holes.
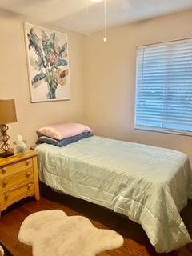
[[[22,198],[39,199],[38,153],[26,150],[25,154],[0,158],[0,217],[2,210]]]

